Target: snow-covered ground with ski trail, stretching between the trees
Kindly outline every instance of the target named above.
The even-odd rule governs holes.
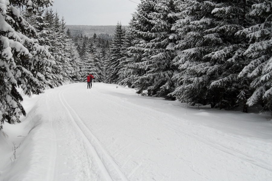
[[[24,97],[27,116],[0,134],[1,181],[272,180],[269,114],[85,84]]]

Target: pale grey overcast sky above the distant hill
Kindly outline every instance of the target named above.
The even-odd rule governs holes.
[[[140,3],[140,0],[131,0]],[[137,8],[129,0],[55,0],[54,11],[63,15],[67,25],[128,25]]]

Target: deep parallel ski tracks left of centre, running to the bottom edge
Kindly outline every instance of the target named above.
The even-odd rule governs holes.
[[[66,109],[71,121],[74,123],[74,125],[76,126],[76,128],[78,129],[79,133],[82,135],[83,139],[86,141],[86,143],[89,145],[89,147],[91,148],[92,154],[95,157],[100,170],[102,171],[103,175],[105,176],[106,180],[112,181],[112,176],[110,175],[109,171],[110,168],[108,168],[109,166],[106,166],[101,157],[99,157],[99,154],[96,150],[101,151],[105,157],[107,158],[107,160],[110,162],[111,166],[116,170],[116,172],[118,173],[118,175],[120,176],[121,180],[123,181],[128,181],[127,177],[125,176],[125,174],[121,171],[120,167],[115,163],[115,161],[112,159],[112,157],[108,154],[108,152],[103,148],[102,144],[100,143],[100,141],[96,138],[95,135],[93,135],[93,133],[91,132],[91,130],[86,126],[86,124],[82,121],[82,119],[79,117],[79,115],[76,113],[76,111],[67,103],[67,101],[65,100],[64,96],[63,96],[63,91],[59,93],[59,98],[60,101],[63,105],[63,107]],[[63,100],[62,100],[63,99]],[[76,120],[73,118],[70,110],[68,109],[69,107],[70,110],[72,110],[73,114],[76,116]],[[80,128],[79,123],[81,125],[84,125],[86,128],[86,132],[88,133],[86,135],[86,133],[84,133],[84,131]],[[89,140],[88,136],[91,136],[92,139],[96,142],[96,144],[98,145],[99,149],[96,147],[94,147],[91,143],[91,141]]]

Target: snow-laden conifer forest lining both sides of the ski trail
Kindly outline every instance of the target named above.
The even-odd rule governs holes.
[[[15,87],[39,94],[89,73],[191,105],[272,110],[271,1],[142,0],[112,40],[72,37],[64,17],[44,8],[50,2],[10,1],[1,11],[2,122],[25,114]]]

